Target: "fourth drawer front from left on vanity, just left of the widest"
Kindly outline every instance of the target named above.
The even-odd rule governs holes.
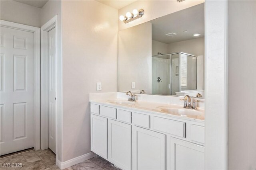
[[[132,124],[149,128],[150,115],[144,115],[141,113],[132,113]]]

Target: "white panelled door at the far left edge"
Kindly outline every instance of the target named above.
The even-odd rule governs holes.
[[[0,154],[34,147],[34,33],[1,26]]]

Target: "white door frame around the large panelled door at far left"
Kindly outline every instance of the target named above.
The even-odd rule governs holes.
[[[34,149],[41,148],[41,123],[40,123],[40,104],[41,104],[41,84],[40,84],[40,28],[0,20],[2,27],[18,29],[34,33]]]

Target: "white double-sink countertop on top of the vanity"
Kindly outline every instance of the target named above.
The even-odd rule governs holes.
[[[112,106],[123,109],[130,109],[134,111],[142,111],[147,113],[153,113],[158,115],[166,115],[178,119],[186,119],[190,121],[197,121],[204,123],[204,109],[188,109],[183,108],[180,105],[162,104],[155,102],[136,101],[128,102],[124,99],[102,99],[102,100],[90,100],[90,102],[99,105]],[[171,109],[169,113],[161,111],[161,109]]]

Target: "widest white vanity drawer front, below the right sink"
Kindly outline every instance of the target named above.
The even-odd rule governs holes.
[[[185,138],[185,122],[165,119],[162,117],[153,117],[152,128],[157,131],[176,135]]]

